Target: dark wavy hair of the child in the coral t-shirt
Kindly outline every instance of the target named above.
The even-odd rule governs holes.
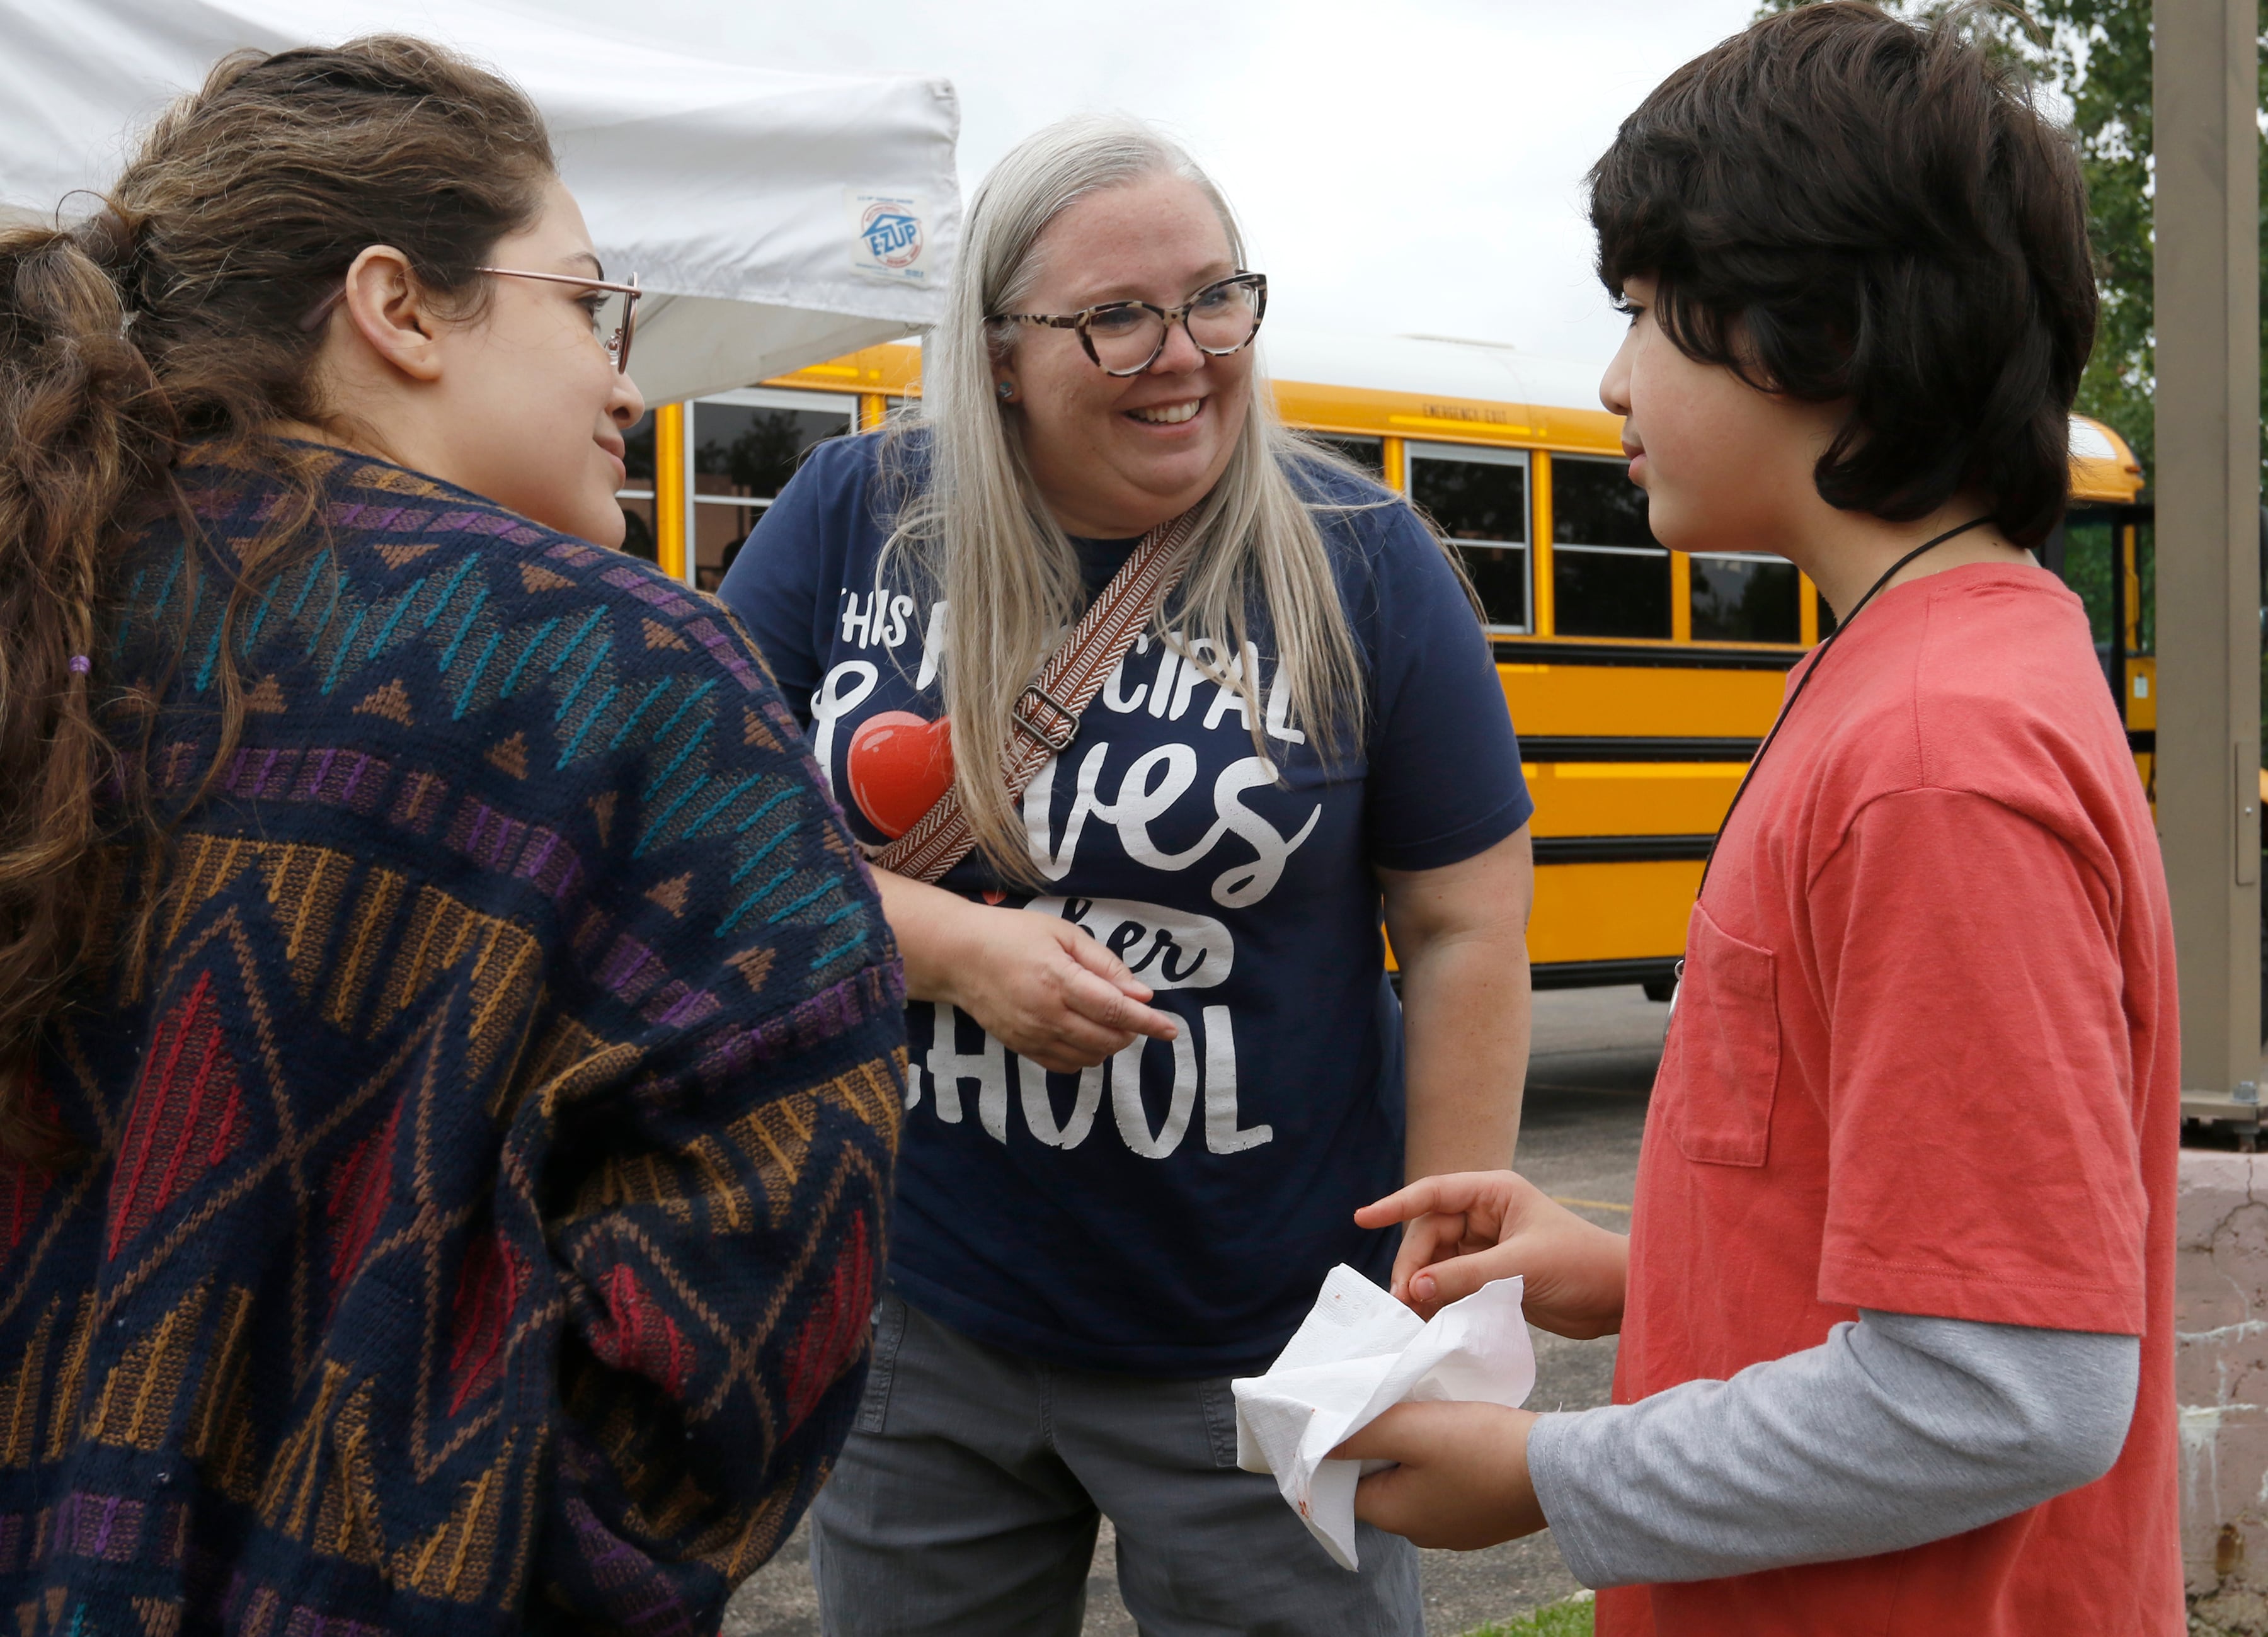
[[[1966,11],[1916,27],[1833,0],[1735,34],[1622,122],[1590,220],[1608,290],[1651,277],[1685,356],[1848,399],[1830,506],[1912,521],[1975,492],[2023,546],[2064,515],[2087,190]]]

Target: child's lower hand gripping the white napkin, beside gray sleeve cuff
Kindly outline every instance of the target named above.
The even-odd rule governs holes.
[[[1354,1487],[1354,1515],[1420,1546],[1479,1551],[1545,1528],[1529,1481],[1535,1417],[1501,1403],[1397,1403],[1331,1451],[1399,1460]]]

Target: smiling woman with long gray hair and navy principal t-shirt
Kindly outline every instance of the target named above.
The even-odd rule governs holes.
[[[1422,1630],[1404,1542],[1349,1576],[1238,1471],[1229,1379],[1334,1263],[1390,1274],[1359,1204],[1510,1159],[1529,796],[1456,565],[1279,424],[1266,297],[1179,147],[1039,132],[919,413],[816,449],[723,583],[912,998],[830,1632],[1077,1632],[1098,1512],[1148,1632]]]

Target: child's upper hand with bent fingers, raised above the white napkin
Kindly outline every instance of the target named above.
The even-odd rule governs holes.
[[[1622,1329],[1631,1240],[1551,1204],[1508,1170],[1424,1177],[1354,1220],[1368,1229],[1408,1222],[1395,1256],[1395,1297],[1433,1317],[1495,1279],[1526,1276],[1529,1324],[1590,1340]]]

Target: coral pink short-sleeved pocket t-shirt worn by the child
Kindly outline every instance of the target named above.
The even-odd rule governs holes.
[[[1615,1401],[1882,1308],[2141,1335],[2134,1422],[2105,1478],[2028,1512],[1603,1592],[1601,1635],[2186,1628],[2177,1054],[2157,837],[2077,599],[2000,565],[1882,592],[1789,714],[1692,914]]]

